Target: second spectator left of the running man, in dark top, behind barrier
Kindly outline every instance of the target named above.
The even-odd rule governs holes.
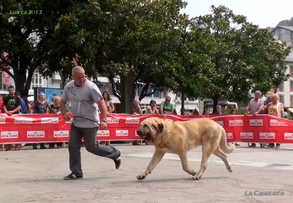
[[[35,110],[35,113],[49,113],[49,105],[45,102],[44,92],[39,94],[39,100],[35,101],[30,108],[30,111],[32,110]],[[37,143],[33,144],[33,149],[38,149]],[[40,143],[40,149],[47,149],[44,143]]]

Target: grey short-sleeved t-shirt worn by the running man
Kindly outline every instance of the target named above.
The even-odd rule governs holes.
[[[99,88],[91,81],[86,80],[83,86],[75,86],[70,81],[64,87],[62,100],[71,102],[71,113],[73,116],[82,116],[96,120],[100,124],[97,103],[103,99]],[[85,118],[74,118],[73,124],[79,128],[94,128],[99,125]]]

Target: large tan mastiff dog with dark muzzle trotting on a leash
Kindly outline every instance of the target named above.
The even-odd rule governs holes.
[[[191,119],[188,121],[169,121],[158,117],[146,118],[136,131],[146,143],[155,146],[145,173],[137,176],[143,180],[162,160],[166,153],[177,154],[182,168],[192,175],[193,180],[200,180],[208,165],[211,154],[221,158],[231,173],[231,164],[226,156],[234,151],[235,145],[228,145],[225,129],[211,119]],[[188,166],[187,152],[202,145],[201,167],[198,173]],[[226,154],[225,154],[226,153]]]

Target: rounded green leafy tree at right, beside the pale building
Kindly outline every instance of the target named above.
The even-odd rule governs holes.
[[[211,14],[203,19],[209,42],[203,51],[214,66],[204,70],[211,84],[202,88],[209,90],[214,112],[220,96],[241,102],[250,90],[265,93],[288,79],[284,59],[290,47],[274,43],[267,29],[247,22],[245,16],[235,15],[225,6],[211,6]]]

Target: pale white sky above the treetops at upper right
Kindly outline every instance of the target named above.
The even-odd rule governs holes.
[[[293,17],[293,0],[185,0],[187,8],[182,12],[190,18],[210,13],[210,6],[225,5],[234,14],[247,17],[247,20],[260,28],[274,27],[282,20]]]

